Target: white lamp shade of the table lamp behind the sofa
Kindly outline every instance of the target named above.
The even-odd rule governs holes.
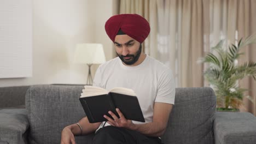
[[[75,63],[101,64],[106,62],[102,44],[77,44]]]

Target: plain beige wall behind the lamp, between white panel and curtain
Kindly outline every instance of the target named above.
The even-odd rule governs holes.
[[[102,43],[107,61],[113,44],[104,31],[106,20],[116,13],[116,0],[32,1],[33,76],[0,79],[0,87],[86,82],[88,68],[73,63],[75,44]],[[96,70],[93,67],[92,73]]]

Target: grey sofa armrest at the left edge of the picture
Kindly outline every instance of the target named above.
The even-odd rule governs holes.
[[[0,110],[0,143],[27,143],[28,127],[25,109]]]

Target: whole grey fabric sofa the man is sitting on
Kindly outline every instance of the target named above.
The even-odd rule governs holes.
[[[61,130],[85,116],[83,86],[36,85],[26,93],[26,109],[0,110],[0,143],[60,143]],[[246,112],[216,112],[211,88],[176,88],[175,105],[162,142],[256,143],[256,118]],[[90,143],[93,134],[77,136]]]

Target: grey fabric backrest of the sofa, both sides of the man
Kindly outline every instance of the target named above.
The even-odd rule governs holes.
[[[79,102],[83,86],[36,85],[26,94],[30,143],[60,143],[61,130],[85,116]],[[211,88],[176,88],[176,99],[167,129],[161,137],[168,143],[214,142],[216,97]],[[90,136],[79,136],[87,143]]]

